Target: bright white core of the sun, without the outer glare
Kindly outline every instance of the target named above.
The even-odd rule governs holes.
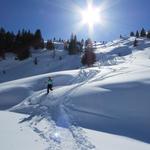
[[[100,9],[89,3],[87,9],[81,11],[81,17],[82,24],[88,25],[89,29],[93,30],[94,25],[101,20]]]

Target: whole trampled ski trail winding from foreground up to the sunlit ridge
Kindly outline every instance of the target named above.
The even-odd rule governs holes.
[[[47,148],[47,150],[65,150],[65,148],[68,147],[70,147],[70,149],[72,150],[94,150],[95,146],[88,141],[82,128],[74,126],[76,125],[76,123],[74,122],[72,116],[67,113],[67,109],[77,110],[76,108],[69,106],[70,95],[72,95],[78,88],[81,88],[81,86],[84,86],[85,84],[88,84],[90,82],[104,80],[118,74],[126,73],[118,73],[118,71],[122,71],[124,69],[125,68],[114,69],[113,67],[108,67],[109,71],[101,75],[100,68],[88,71],[84,68],[81,68],[77,77],[68,82],[69,85],[75,86],[64,93],[61,99],[56,98],[53,94],[51,94],[51,98],[49,96],[46,96],[45,90],[35,92],[30,97],[26,98],[22,106],[25,105],[27,110],[28,106],[33,107],[34,109],[32,109],[32,112],[30,112],[30,116],[28,118],[24,118],[20,123],[28,122],[33,131],[38,133],[41,138],[49,143],[49,147]],[[51,101],[51,107],[42,104],[44,99],[48,99],[49,101]],[[55,120],[56,122],[53,121],[53,114],[51,111],[49,111],[49,109],[53,109],[55,113],[57,112],[56,114],[54,114],[56,115],[54,118],[58,119]],[[78,111],[81,111],[83,113],[90,113],[84,110]],[[23,110],[23,112],[25,113],[26,109]],[[103,116],[103,114],[101,115]],[[59,119],[60,116],[61,118]],[[111,118],[111,116],[106,115],[104,115],[104,117]],[[41,129],[39,124],[43,121],[46,121],[46,124],[48,125]],[[63,135],[65,135],[66,133],[60,131],[59,126],[67,129],[67,132],[69,132],[69,136],[67,135],[63,137]],[[61,133],[61,136],[59,136],[59,131]],[[67,140],[67,137],[72,138],[72,145],[62,142],[62,138]]]

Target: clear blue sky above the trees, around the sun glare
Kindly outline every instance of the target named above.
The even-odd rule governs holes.
[[[45,39],[87,38],[88,26],[78,30],[81,15],[77,7],[85,9],[87,0],[0,0],[0,26],[16,32],[40,28]],[[93,40],[112,40],[144,27],[150,29],[150,0],[93,0],[95,6],[106,3],[101,12],[105,25],[95,25]],[[101,21],[103,22],[103,21]]]

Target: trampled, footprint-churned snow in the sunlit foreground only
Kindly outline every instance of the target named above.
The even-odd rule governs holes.
[[[94,150],[95,147],[87,140],[82,128],[72,125],[61,128],[51,119],[47,107],[39,109],[44,109],[41,111],[44,113],[24,118],[20,123],[28,121],[33,131],[49,144],[47,150]]]

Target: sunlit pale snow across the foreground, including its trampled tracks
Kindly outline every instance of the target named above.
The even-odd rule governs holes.
[[[133,139],[94,130],[83,128],[77,129],[72,127],[72,131],[74,131],[72,133],[76,135],[75,138],[72,137],[72,133],[67,129],[60,127],[56,128],[55,123],[52,120],[46,122],[46,120],[39,121],[40,119],[33,119],[34,122],[22,122],[23,119],[27,117],[27,115],[0,111],[0,148],[2,150],[44,150],[48,148],[50,150],[78,150],[80,144],[89,144],[84,140],[84,138],[88,138],[89,141],[96,146],[96,150],[149,150],[150,147],[149,144],[135,141]],[[40,122],[39,124],[41,127],[38,123],[37,125],[36,122]],[[40,128],[40,130],[38,130],[38,128]],[[77,142],[78,147],[77,144],[75,144]],[[79,144],[79,142],[81,143]],[[89,145],[89,147],[94,149],[93,145]]]

